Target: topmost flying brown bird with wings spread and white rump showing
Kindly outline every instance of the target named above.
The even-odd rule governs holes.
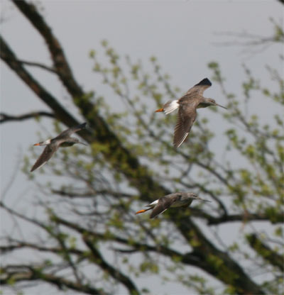
[[[175,111],[178,108],[178,121],[175,125],[175,134],[173,138],[174,147],[179,147],[187,138],[190,133],[192,124],[195,122],[197,108],[207,108],[207,106],[220,106],[214,101],[214,99],[206,99],[203,96],[205,89],[211,86],[209,79],[205,78],[196,84],[194,87],[190,88],[187,93],[180,97],[180,99],[175,99],[173,101],[168,101],[163,105],[163,108],[159,108],[155,112],[163,111],[166,115]],[[225,108],[224,106],[221,106]]]

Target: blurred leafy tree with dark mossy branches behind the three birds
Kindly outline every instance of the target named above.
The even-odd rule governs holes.
[[[256,99],[269,100],[283,113],[281,74],[267,67],[274,85],[270,89],[244,66],[240,98],[226,89],[218,62],[209,62],[210,79],[228,108],[211,109],[214,118],[224,121],[226,145],[222,151],[212,149],[219,135],[209,118],[197,116],[189,140],[175,149],[175,116],[153,110],[180,96],[180,89],[173,87],[155,57],[150,58],[149,73],[141,62],[119,56],[107,41],[102,42],[107,62],[95,50],[90,52],[97,79],[113,91],[109,104],[96,91],[84,92],[60,40],[36,6],[13,4],[45,40],[53,65],[21,60],[3,37],[1,60],[50,112],[20,117],[2,113],[1,123],[48,116],[55,133],[82,121],[90,128],[78,133],[89,146],[59,150],[40,170],[45,185],[37,182],[40,173],[29,173],[32,162],[25,158],[23,171],[40,191],[33,204],[39,214],[32,217],[1,201],[1,211],[19,231],[29,224],[36,233],[28,240],[16,232],[2,233],[1,255],[17,252],[19,257],[28,251],[34,257],[30,263],[1,263],[2,286],[24,291],[26,283],[47,283],[78,294],[143,294],[151,293],[151,285],[137,284],[136,278],[151,276],[195,294],[282,294],[283,117],[275,113],[268,124],[257,108],[248,107],[259,104]],[[283,44],[283,35],[275,26],[275,41]],[[58,77],[72,108],[63,106],[28,67]],[[135,215],[141,206],[175,191],[194,191],[212,202],[173,208],[153,220],[147,213]],[[226,245],[220,231],[235,224],[241,238]],[[258,272],[267,274],[266,279],[255,279]]]

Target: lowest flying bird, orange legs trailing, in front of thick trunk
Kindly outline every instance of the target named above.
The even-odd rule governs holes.
[[[194,193],[173,193],[167,194],[166,196],[162,196],[160,199],[153,201],[151,204],[146,205],[146,207],[149,208],[137,211],[136,214],[153,209],[150,218],[154,218],[155,216],[165,212],[170,207],[186,208],[187,206],[190,206],[194,200],[209,202],[207,200],[201,199],[199,196],[197,196],[197,194]]]

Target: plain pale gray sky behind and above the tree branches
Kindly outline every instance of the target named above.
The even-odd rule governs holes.
[[[239,93],[244,80],[242,63],[258,74],[263,84],[271,82],[265,65],[281,70],[279,47],[272,45],[255,55],[241,55],[242,48],[214,45],[225,42],[221,32],[248,32],[261,36],[272,34],[268,18],[276,21],[283,18],[283,6],[278,1],[43,1],[43,15],[65,49],[75,77],[84,90],[95,89],[105,94],[106,89],[92,72],[89,50],[102,55],[100,43],[109,40],[121,55],[133,60],[148,62],[152,55],[158,57],[160,65],[172,77],[171,81],[186,91],[204,77],[212,74],[207,63],[217,61],[226,76],[226,86],[231,92]],[[1,34],[19,58],[50,65],[50,58],[42,38],[26,21],[10,1],[1,1]],[[68,105],[67,94],[52,74],[40,69],[29,68],[49,91]],[[207,96],[224,104],[218,87],[207,90]],[[48,108],[1,63],[1,111],[12,114]],[[268,104],[263,102],[255,110],[266,119]],[[273,110],[271,111],[273,113]],[[266,115],[265,115],[266,114]],[[269,114],[269,113],[268,113]],[[48,119],[43,128],[52,131]],[[21,123],[5,123],[1,126],[1,193],[9,183],[16,161],[28,154],[36,143],[39,130],[33,120]],[[21,165],[22,166],[22,165]],[[20,167],[21,167],[20,166]],[[31,194],[32,184],[18,172],[13,187],[6,196],[8,204],[18,204],[18,196]],[[170,289],[168,289],[170,292]]]

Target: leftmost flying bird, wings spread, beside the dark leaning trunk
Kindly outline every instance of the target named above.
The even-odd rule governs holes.
[[[33,167],[31,168],[31,172],[45,165],[45,163],[48,162],[48,160],[50,160],[50,157],[53,156],[53,154],[58,150],[59,147],[70,147],[71,145],[75,145],[75,143],[81,143],[82,145],[86,145],[77,138],[71,137],[72,133],[80,131],[86,127],[87,123],[82,123],[80,125],[62,131],[62,133],[56,136],[56,138],[48,139],[40,143],[35,143],[34,145],[46,145],[46,147],[43,150],[43,153],[38,158],[38,160],[35,162],[35,165],[33,165]]]

